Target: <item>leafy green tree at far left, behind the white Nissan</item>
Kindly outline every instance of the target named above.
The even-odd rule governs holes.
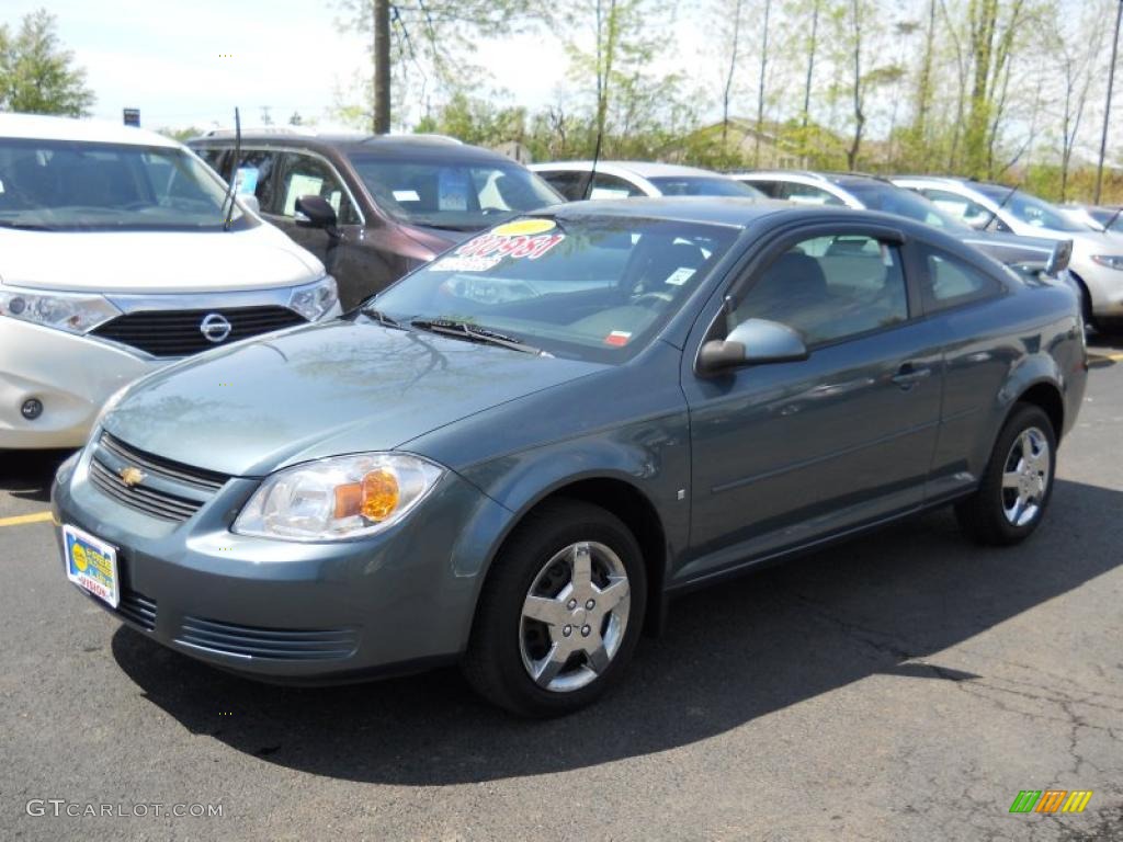
[[[12,35],[0,26],[0,111],[84,117],[93,104],[85,71],[58,42],[54,15],[27,15]]]

